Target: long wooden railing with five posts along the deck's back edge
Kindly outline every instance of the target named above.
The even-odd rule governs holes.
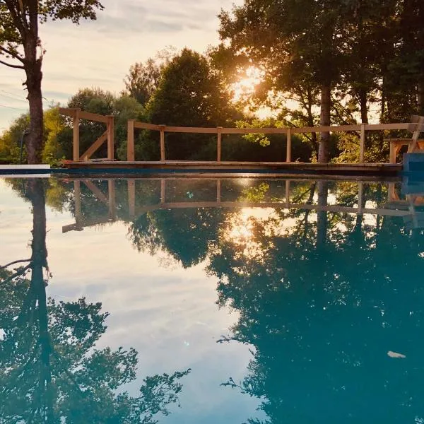
[[[217,158],[221,162],[221,143],[223,134],[285,134],[287,139],[286,146],[286,162],[292,160],[292,135],[305,133],[323,133],[323,132],[360,132],[359,145],[359,163],[364,162],[365,156],[365,131],[393,131],[393,130],[409,130],[411,124],[357,124],[357,125],[336,125],[336,126],[305,126],[302,128],[200,128],[193,126],[167,126],[147,124],[145,122],[137,122],[135,120],[128,121],[128,146],[127,160],[134,162],[135,160],[135,130],[148,129],[160,132],[160,160],[165,161],[165,133],[191,133],[191,134],[217,134]]]

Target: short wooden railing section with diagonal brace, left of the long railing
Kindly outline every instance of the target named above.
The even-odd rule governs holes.
[[[73,161],[89,160],[98,151],[105,141],[107,141],[107,160],[114,160],[114,117],[100,114],[83,112],[81,109],[66,109],[59,107],[59,114],[63,114],[73,119]],[[106,124],[106,131],[80,156],[79,124],[81,119],[102,122]]]

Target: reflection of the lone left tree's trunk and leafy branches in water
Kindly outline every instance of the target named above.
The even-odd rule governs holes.
[[[0,423],[155,423],[189,370],[147,377],[136,397],[119,391],[136,377],[137,352],[95,347],[107,328],[100,303],[47,299],[45,190],[31,179],[25,192],[33,254],[13,275],[0,269]]]

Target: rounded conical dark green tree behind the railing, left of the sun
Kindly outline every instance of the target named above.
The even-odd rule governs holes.
[[[224,126],[236,116],[206,58],[189,49],[183,49],[163,70],[147,113],[150,122],[177,126]],[[215,148],[211,143],[210,136],[167,134],[167,158],[199,158],[202,151],[206,155]]]

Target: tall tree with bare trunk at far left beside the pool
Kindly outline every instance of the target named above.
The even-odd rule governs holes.
[[[48,19],[95,19],[102,10],[99,0],[1,0],[0,64],[25,71],[30,126],[26,137],[28,163],[40,163],[43,146],[42,59],[45,49],[39,37],[39,25]]]

